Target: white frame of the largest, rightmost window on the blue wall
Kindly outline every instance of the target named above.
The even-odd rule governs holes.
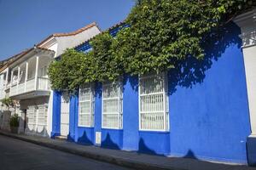
[[[147,79],[150,77],[163,77],[163,91],[159,93],[150,93],[150,94],[143,94],[141,95],[141,80],[142,79]],[[163,108],[164,108],[164,128],[163,129],[147,129],[147,128],[142,128],[142,120],[141,120],[141,113],[142,112],[147,112],[147,111],[142,111],[142,104],[141,104],[141,97],[142,96],[150,96],[150,95],[155,95],[155,94],[162,94],[163,95]],[[139,75],[138,76],[138,120],[139,120],[139,131],[143,132],[170,132],[170,112],[169,112],[169,96],[168,96],[168,79],[167,79],[167,74],[166,72],[160,73],[160,74],[148,74],[148,75]],[[156,112],[156,111],[153,111]],[[159,111],[160,113],[162,111]]]

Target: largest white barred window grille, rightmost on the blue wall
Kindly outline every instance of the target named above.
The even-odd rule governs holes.
[[[166,75],[139,78],[139,128],[148,131],[169,130]]]

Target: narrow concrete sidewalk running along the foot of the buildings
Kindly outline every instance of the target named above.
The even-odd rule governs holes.
[[[106,161],[123,167],[135,169],[191,169],[191,170],[256,170],[256,167],[241,165],[227,165],[212,163],[189,158],[174,158],[165,156],[150,156],[137,152],[123,150],[109,150],[91,145],[81,145],[65,140],[48,139],[37,136],[27,136],[0,131],[0,134],[11,138],[24,140],[33,144],[43,145],[55,150],[62,150],[79,156],[88,157],[98,161]]]

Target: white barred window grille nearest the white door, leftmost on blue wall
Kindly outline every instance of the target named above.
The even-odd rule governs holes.
[[[79,89],[79,126],[94,126],[94,90],[91,84],[81,86]]]

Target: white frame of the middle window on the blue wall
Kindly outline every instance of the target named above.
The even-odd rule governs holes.
[[[112,97],[112,98],[104,98],[104,88],[106,86],[109,86],[109,85],[113,85],[113,84],[117,84],[118,86],[118,97]],[[111,100],[111,99],[118,99],[118,127],[104,127],[103,126],[103,117],[104,115],[108,115],[109,113],[108,112],[105,112],[104,113],[104,100]],[[111,114],[109,114],[111,115]],[[120,122],[121,121],[121,122]],[[121,80],[119,81],[116,81],[116,82],[105,82],[105,83],[102,83],[102,128],[105,128],[105,129],[117,129],[117,130],[121,130],[123,129],[123,83]]]

